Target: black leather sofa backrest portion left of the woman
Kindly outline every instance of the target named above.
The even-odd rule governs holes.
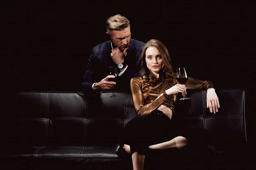
[[[24,92],[9,99],[9,144],[113,146],[136,114],[131,94]]]

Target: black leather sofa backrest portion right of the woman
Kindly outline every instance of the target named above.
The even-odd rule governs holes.
[[[244,89],[216,90],[220,108],[215,114],[207,108],[206,92],[187,89],[191,99],[177,99],[175,113],[179,127],[207,129],[213,144],[247,144]]]

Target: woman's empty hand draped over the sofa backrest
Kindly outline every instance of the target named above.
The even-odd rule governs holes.
[[[207,108],[210,109],[210,112],[215,114],[215,111],[218,112],[220,108],[220,103],[218,101],[218,96],[214,88],[208,88],[206,94]]]

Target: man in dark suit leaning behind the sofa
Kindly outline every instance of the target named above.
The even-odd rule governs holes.
[[[130,21],[117,14],[108,18],[107,32],[110,40],[96,45],[88,59],[86,71],[82,79],[85,91],[131,91],[130,80],[140,75],[140,54],[144,42],[131,39]],[[114,81],[108,81],[114,76],[109,74],[109,67],[115,66],[118,76]]]

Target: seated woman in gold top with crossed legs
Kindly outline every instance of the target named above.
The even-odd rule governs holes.
[[[182,148],[190,135],[177,132],[172,126],[177,94],[186,88],[207,89],[207,108],[218,112],[219,102],[212,82],[188,78],[185,85],[177,82],[166,46],[149,40],[140,57],[142,75],[131,79],[135,116],[125,127],[123,146],[131,153],[134,170],[143,170],[148,149]],[[128,145],[129,144],[129,145]]]

